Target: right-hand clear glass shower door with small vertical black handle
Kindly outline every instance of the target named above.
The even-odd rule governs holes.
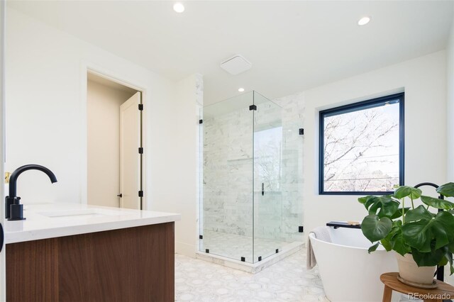
[[[282,247],[282,108],[254,91],[254,262]]]

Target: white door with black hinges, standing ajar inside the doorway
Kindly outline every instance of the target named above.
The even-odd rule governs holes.
[[[120,106],[120,206],[140,209],[140,92]]]

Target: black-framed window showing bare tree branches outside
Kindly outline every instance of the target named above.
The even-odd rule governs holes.
[[[392,194],[404,184],[404,94],[320,111],[320,194]]]

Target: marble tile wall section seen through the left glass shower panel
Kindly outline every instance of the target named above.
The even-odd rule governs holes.
[[[252,113],[204,118],[203,127],[204,229],[252,236]]]

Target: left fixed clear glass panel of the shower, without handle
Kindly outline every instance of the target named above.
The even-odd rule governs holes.
[[[205,106],[201,252],[253,263],[253,91]]]

